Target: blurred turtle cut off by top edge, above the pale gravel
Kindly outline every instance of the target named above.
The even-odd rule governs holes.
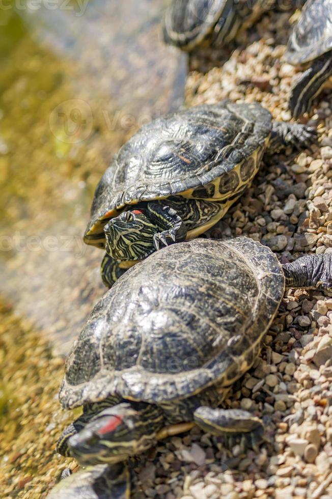
[[[284,10],[273,0],[173,0],[165,12],[163,39],[186,51],[229,45],[274,6]]]

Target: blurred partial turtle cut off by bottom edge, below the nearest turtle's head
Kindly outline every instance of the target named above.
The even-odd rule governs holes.
[[[123,463],[98,464],[73,473],[61,480],[47,495],[47,499],[129,499],[130,473]]]

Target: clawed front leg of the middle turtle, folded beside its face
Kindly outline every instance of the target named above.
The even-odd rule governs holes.
[[[163,203],[148,203],[148,211],[154,219],[155,224],[161,229],[153,236],[153,244],[156,250],[162,246],[169,246],[174,242],[184,241],[187,229],[176,210]]]

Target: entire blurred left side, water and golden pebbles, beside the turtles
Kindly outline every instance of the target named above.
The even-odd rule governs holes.
[[[144,123],[183,103],[164,0],[0,1],[0,497],[46,497],[73,415],[65,355],[105,288],[82,235],[96,184]]]

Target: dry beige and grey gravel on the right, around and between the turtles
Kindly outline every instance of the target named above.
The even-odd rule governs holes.
[[[222,67],[217,51],[192,57],[186,104],[223,98],[258,101],[273,117],[289,121],[287,100],[298,72],[282,60],[289,16],[266,15],[258,36],[237,49]],[[220,65],[220,63],[219,63]],[[252,237],[268,245],[281,262],[310,253],[332,253],[331,96],[317,102],[309,118],[318,129],[312,150],[267,158],[240,201],[210,232],[212,237]],[[194,428],[161,442],[140,460],[136,497],[238,499],[332,496],[332,299],[319,292],[285,294],[253,369],[234,387],[229,407],[260,414],[268,443],[260,453],[239,455],[222,439]]]

